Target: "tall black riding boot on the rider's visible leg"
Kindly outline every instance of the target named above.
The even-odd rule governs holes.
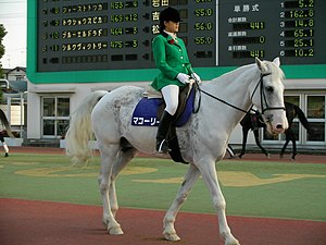
[[[168,148],[167,142],[166,142],[166,135],[167,135],[167,132],[172,124],[173,118],[174,117],[171,115],[165,110],[161,117],[159,128],[158,128],[158,134],[156,134],[156,150],[160,154],[165,154],[167,151],[171,151],[171,149]]]

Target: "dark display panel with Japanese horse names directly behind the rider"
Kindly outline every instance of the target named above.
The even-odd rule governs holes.
[[[37,70],[154,68],[151,41],[167,7],[180,12],[179,37],[192,50],[193,65],[215,65],[215,1],[38,0]]]

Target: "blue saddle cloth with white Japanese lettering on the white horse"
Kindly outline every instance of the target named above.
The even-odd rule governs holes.
[[[176,121],[175,126],[183,126],[188,122],[192,109],[193,109],[195,93],[193,89],[187,99],[185,110]],[[158,119],[158,109],[163,103],[161,98],[142,98],[136,106],[133,118],[131,125],[134,126],[158,126],[160,119]]]

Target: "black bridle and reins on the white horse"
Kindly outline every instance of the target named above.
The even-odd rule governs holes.
[[[265,76],[268,76],[268,75],[272,75],[272,73],[264,73],[264,74],[261,74],[260,79],[259,79],[259,82],[256,83],[256,85],[255,85],[255,87],[254,87],[254,89],[253,89],[253,91],[252,91],[252,95],[250,96],[250,99],[252,100],[254,94],[256,93],[258,88],[260,87],[260,91],[261,91],[261,107],[262,107],[262,114],[264,114],[264,112],[265,112],[265,111],[268,111],[268,110],[286,110],[285,107],[269,107],[269,106],[268,106],[267,99],[266,99],[266,95],[265,95],[265,91],[264,91],[264,86],[263,86],[263,85],[264,85],[264,77],[265,77]],[[227,101],[225,101],[225,100],[223,100],[223,99],[220,99],[220,98],[217,98],[216,96],[214,96],[214,95],[212,95],[212,94],[210,94],[210,93],[208,93],[208,91],[201,89],[200,86],[199,86],[199,81],[195,79],[195,82],[196,82],[196,83],[195,83],[195,84],[196,84],[196,87],[197,87],[197,89],[198,89],[200,93],[203,93],[203,94],[205,94],[206,96],[209,96],[209,97],[211,97],[211,98],[213,98],[213,99],[215,99],[215,100],[218,100],[220,102],[223,102],[223,103],[225,103],[225,105],[227,105],[227,106],[229,106],[229,107],[231,107],[231,108],[234,108],[234,109],[236,109],[236,110],[239,110],[239,111],[241,111],[241,112],[243,112],[243,113],[248,113],[249,111],[253,111],[253,112],[255,112],[255,113],[261,114],[260,111],[253,109],[253,105],[249,108],[248,111],[246,111],[246,110],[243,110],[243,109],[241,109],[241,108],[239,108],[239,107],[237,107],[237,106],[234,106],[234,105],[231,105],[231,103],[229,103],[229,102],[227,102]],[[198,107],[197,107],[197,109],[193,109],[193,113],[197,113],[197,112],[199,111],[200,103],[201,103],[201,94],[199,94],[199,102],[198,102]],[[264,108],[264,103],[265,103],[265,108]],[[271,118],[266,118],[266,119],[265,119],[265,122],[271,122]]]

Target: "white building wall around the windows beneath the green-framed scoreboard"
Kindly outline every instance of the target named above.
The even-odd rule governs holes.
[[[147,86],[149,83],[131,83],[135,86]],[[41,97],[64,95],[70,97],[71,113],[79,102],[91,91],[104,89],[112,90],[123,83],[90,83],[90,84],[32,84],[28,83],[28,110],[27,110],[27,138],[42,138],[41,135]],[[325,79],[286,79],[285,95],[317,93],[326,96]],[[230,136],[230,144],[240,145],[242,142],[242,131],[238,125]],[[248,144],[254,144],[253,134],[250,133]],[[326,147],[326,142],[323,143]]]

